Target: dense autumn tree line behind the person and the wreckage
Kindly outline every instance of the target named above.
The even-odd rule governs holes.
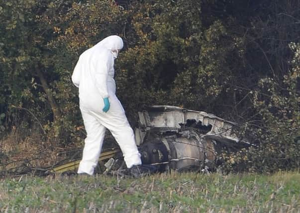
[[[299,168],[299,8],[300,0],[0,0],[0,134],[23,128],[80,144],[73,68],[117,34],[117,95],[132,126],[148,105],[206,111],[259,145],[225,153],[228,170]]]

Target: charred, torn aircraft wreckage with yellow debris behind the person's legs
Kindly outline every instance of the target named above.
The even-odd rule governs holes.
[[[154,105],[138,112],[138,116],[136,145],[142,164],[154,167],[155,172],[214,170],[222,150],[237,151],[250,146],[247,140],[238,138],[236,123],[206,112]],[[109,159],[104,173],[126,174],[128,169],[112,169],[117,161],[122,161],[121,157],[119,149],[102,152],[99,160]],[[76,171],[79,162],[53,167],[49,172]]]

